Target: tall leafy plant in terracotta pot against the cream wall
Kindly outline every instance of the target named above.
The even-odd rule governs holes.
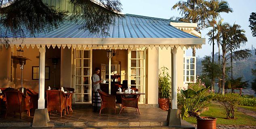
[[[166,67],[162,67],[161,69],[158,79],[158,105],[159,108],[168,110],[170,103],[171,77],[167,72],[168,69]]]

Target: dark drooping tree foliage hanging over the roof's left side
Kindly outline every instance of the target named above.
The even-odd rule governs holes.
[[[91,34],[106,36],[115,17],[122,17],[118,13],[122,10],[119,0],[69,0],[69,3],[73,15],[68,19],[84,19],[80,29]],[[8,47],[8,35],[17,39],[57,29],[67,12],[42,0],[0,0],[0,47]]]

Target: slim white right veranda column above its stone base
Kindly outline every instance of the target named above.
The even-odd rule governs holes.
[[[177,49],[172,49],[172,109],[177,109]]]

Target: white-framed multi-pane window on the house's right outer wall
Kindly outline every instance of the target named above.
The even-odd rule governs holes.
[[[196,82],[196,57],[185,56],[184,57],[184,81],[185,83]]]

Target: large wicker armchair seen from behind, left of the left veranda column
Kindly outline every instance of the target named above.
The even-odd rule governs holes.
[[[7,112],[19,112],[19,119],[21,119],[21,113],[27,110],[28,116],[30,116],[30,97],[25,96],[22,92],[16,90],[5,91],[4,95],[6,97],[6,113],[4,118],[6,118]]]

